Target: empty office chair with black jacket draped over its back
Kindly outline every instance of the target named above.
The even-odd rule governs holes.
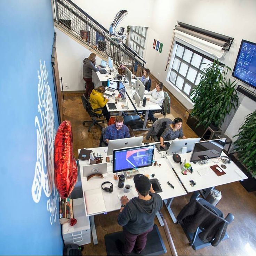
[[[233,219],[231,213],[223,218],[222,211],[203,198],[191,199],[177,216],[194,250],[228,239],[226,229]]]

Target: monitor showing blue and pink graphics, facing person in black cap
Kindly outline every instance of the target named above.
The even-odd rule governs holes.
[[[113,151],[113,173],[152,166],[155,145],[117,149]]]

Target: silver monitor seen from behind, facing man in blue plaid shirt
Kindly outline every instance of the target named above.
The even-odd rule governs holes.
[[[107,155],[112,155],[114,149],[140,146],[142,144],[142,141],[143,136],[110,140],[109,146],[107,147]]]

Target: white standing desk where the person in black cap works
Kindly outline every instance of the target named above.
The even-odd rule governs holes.
[[[105,162],[106,155],[107,155],[105,151],[107,151],[107,147],[91,148],[90,150],[92,150],[95,153],[101,154],[102,157],[103,157],[103,162]],[[152,174],[155,174],[154,178],[157,178],[159,180],[159,183],[161,184],[161,188],[162,188],[162,191],[163,191],[163,192],[158,193],[158,194],[164,200],[165,205],[166,205],[171,217],[175,221],[176,218],[174,217],[174,214],[173,214],[173,212],[171,211],[171,208],[170,208],[172,199],[174,197],[178,197],[180,195],[185,195],[186,191],[183,188],[183,186],[181,185],[181,183],[179,182],[179,180],[178,180],[177,176],[175,175],[174,171],[171,169],[171,166],[168,163],[167,159],[160,158],[161,154],[159,154],[156,151],[157,150],[155,150],[155,160],[157,160],[158,163],[161,164],[161,167],[159,167],[159,166],[144,167],[144,168],[139,168],[138,171],[139,171],[139,173],[142,173],[142,174],[149,174],[149,176],[152,175]],[[110,160],[112,160],[112,159],[110,159]],[[103,179],[102,178],[92,178],[89,181],[87,181],[86,177],[83,177],[83,174],[82,174],[82,166],[85,166],[85,165],[89,165],[89,162],[79,161],[79,169],[80,169],[80,175],[81,175],[82,190],[86,191],[86,190],[91,190],[91,189],[97,189],[97,188],[101,187],[101,184],[103,182],[110,181],[113,184],[113,192],[109,193],[109,192],[106,192],[106,191],[102,190],[103,198],[104,198],[104,202],[105,202],[105,207],[106,207],[106,212],[119,210],[120,207],[121,207],[121,203],[120,203],[120,200],[118,198],[118,195],[123,194],[123,188],[120,189],[118,187],[118,181],[115,181],[113,179],[114,174],[113,174],[113,171],[112,171],[112,163],[107,163],[107,174],[103,175],[104,176]],[[167,184],[167,181],[169,181],[174,186],[174,189],[172,189]],[[126,184],[133,185],[132,190],[135,191],[135,184],[133,182],[133,178],[126,179],[125,180],[125,185]],[[83,193],[83,196],[84,196],[84,193]],[[129,198],[129,193],[127,194],[127,196]],[[85,202],[85,199],[84,199],[84,202]],[[85,211],[86,211],[86,202],[85,202]],[[90,218],[91,232],[92,232],[94,244],[98,243],[96,228],[95,228],[95,223],[94,223],[94,216],[97,215],[97,214],[102,214],[102,213],[96,213],[96,214],[88,215],[87,211],[86,211],[86,216],[89,216],[89,218]],[[163,225],[159,213],[157,214],[157,217],[159,219],[160,224]]]

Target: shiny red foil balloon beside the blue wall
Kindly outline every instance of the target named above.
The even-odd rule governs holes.
[[[73,136],[70,121],[63,121],[54,141],[55,186],[61,198],[67,198],[77,181],[77,163],[73,155]]]

